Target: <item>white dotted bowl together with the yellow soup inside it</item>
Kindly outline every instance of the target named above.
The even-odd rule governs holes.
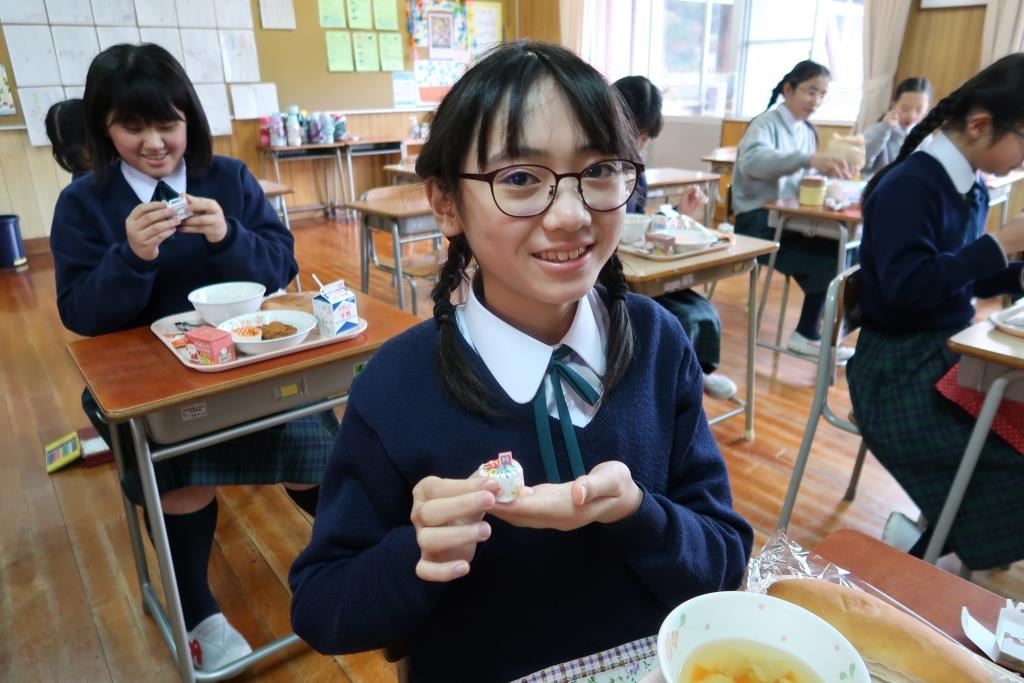
[[[657,634],[668,683],[870,683],[853,645],[803,607],[726,591],[679,605]]]

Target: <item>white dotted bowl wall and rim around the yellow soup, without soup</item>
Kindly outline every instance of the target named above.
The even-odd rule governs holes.
[[[697,647],[735,639],[778,648],[825,683],[870,683],[863,659],[831,625],[784,600],[741,591],[701,595],[669,613],[657,632],[662,675],[675,683]]]

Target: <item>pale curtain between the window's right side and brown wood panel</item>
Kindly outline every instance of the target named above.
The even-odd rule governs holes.
[[[889,110],[910,1],[864,2],[864,98],[860,101],[857,130],[871,125]]]

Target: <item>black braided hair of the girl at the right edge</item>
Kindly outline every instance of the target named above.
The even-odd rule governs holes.
[[[1024,123],[1024,52],[1015,52],[993,61],[961,87],[943,97],[903,140],[899,156],[876,173],[864,187],[860,204],[878,187],[886,173],[910,156],[936,129],[963,130],[977,110],[992,116],[995,139]],[[993,139],[994,141],[994,139]]]

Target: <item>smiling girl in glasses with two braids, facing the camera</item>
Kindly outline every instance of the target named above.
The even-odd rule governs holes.
[[[353,383],[290,574],[316,650],[404,641],[414,681],[507,681],[738,585],[751,527],[700,367],[614,254],[642,168],[627,117],[591,66],[536,42],[496,48],[441,102],[417,161],[451,241],[434,318]],[[474,472],[502,451],[531,488],[497,504]]]

